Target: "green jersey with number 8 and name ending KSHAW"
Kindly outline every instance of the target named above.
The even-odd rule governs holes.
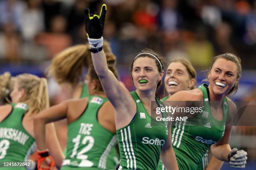
[[[13,103],[10,114],[0,122],[0,161],[24,162],[34,152],[34,138],[22,125],[24,114],[28,110],[25,103]],[[4,169],[25,170],[24,167]]]

